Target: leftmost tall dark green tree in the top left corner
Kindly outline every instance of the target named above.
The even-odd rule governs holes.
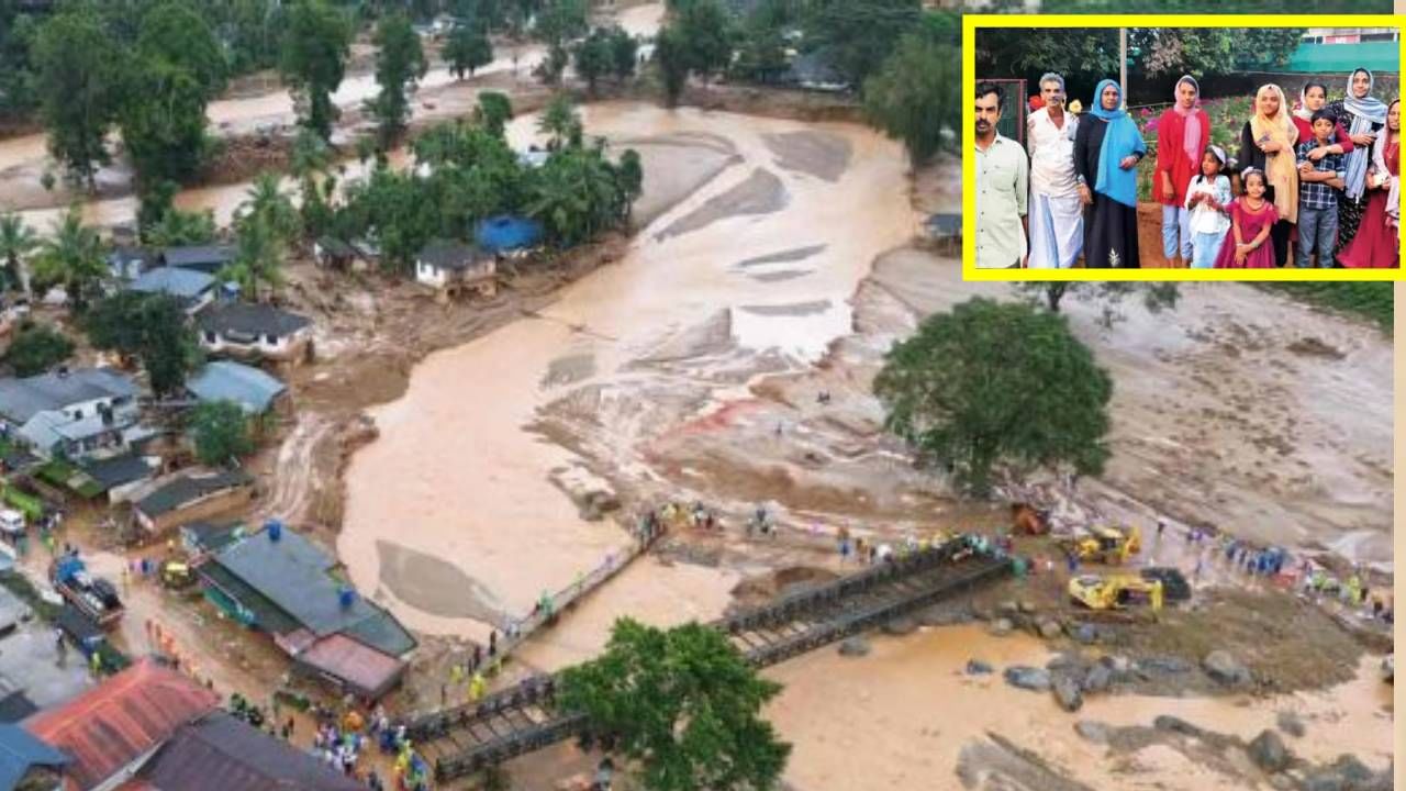
[[[97,169],[111,160],[107,134],[121,104],[124,53],[87,6],[67,6],[45,23],[34,52],[49,152],[96,191]]]

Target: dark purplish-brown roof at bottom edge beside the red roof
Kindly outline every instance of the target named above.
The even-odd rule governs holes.
[[[356,780],[222,711],[181,726],[138,777],[162,791],[366,791]]]

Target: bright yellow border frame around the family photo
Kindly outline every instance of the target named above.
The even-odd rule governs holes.
[[[1213,14],[966,14],[962,18],[962,184],[976,182],[976,31],[979,28],[1118,28],[1118,27],[1389,27],[1398,37],[1400,63],[1406,62],[1406,17],[1371,14],[1329,17],[1312,14],[1213,15]],[[1406,239],[1406,225],[1402,228]],[[976,191],[962,190],[963,280],[1406,280],[1406,269],[977,269]],[[1403,245],[1406,249],[1406,245]]]

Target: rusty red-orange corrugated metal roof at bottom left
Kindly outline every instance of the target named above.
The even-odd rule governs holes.
[[[67,776],[86,791],[218,704],[215,692],[143,659],[24,726],[73,759]]]

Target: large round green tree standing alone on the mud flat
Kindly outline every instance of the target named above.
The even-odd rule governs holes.
[[[997,467],[1099,474],[1112,391],[1064,317],[984,298],[924,321],[875,379],[884,426],[979,495]]]

